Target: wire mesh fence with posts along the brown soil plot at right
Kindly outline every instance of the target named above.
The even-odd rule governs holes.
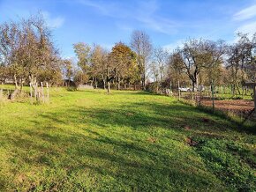
[[[235,88],[233,85],[200,86],[192,92],[189,87],[173,87],[173,95],[182,100],[189,100],[197,106],[221,110],[246,118],[254,110],[252,86]],[[255,118],[255,113],[252,118]]]

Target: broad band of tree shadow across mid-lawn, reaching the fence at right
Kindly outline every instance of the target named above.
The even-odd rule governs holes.
[[[141,132],[154,132],[154,129],[168,129],[184,134],[186,128],[199,130],[205,136],[223,137],[225,132],[246,132],[252,135],[251,129],[240,129],[237,124],[222,118],[220,115],[207,114],[199,108],[188,105],[162,104],[157,102],[134,102],[117,107],[71,107],[61,113],[41,114],[39,119],[47,120],[49,127],[52,122],[71,124],[72,126],[96,126],[100,129],[111,127],[128,127]],[[34,120],[34,123],[39,123]],[[45,122],[44,122],[45,124]],[[47,124],[47,123],[46,123]],[[214,134],[212,134],[214,133]],[[229,136],[230,137],[230,136]]]

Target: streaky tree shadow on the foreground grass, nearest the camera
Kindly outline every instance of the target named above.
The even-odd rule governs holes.
[[[30,139],[10,139],[19,152],[24,152],[19,159],[29,166],[64,169],[66,175],[63,176],[66,178],[89,169],[93,174],[91,176],[99,176],[99,182],[114,180],[116,184],[110,188],[122,189],[120,186],[126,186],[139,190],[170,190],[185,188],[184,184],[189,184],[189,188],[202,189],[214,187],[218,182],[202,169],[198,161],[189,158],[192,154],[188,149],[179,151],[178,146],[161,149],[147,140],[129,141],[125,137],[111,137],[111,133],[106,136],[99,129],[86,129],[85,132],[88,135],[65,130],[59,131],[58,137],[53,137],[51,133],[26,129],[24,133]],[[33,157],[24,156],[26,151],[32,149],[39,153]],[[170,150],[171,154],[177,155],[176,158],[169,155]],[[55,180],[44,179],[41,178],[42,183],[56,183]],[[68,179],[65,181],[69,182]]]

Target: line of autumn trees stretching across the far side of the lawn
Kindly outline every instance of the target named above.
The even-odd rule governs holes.
[[[238,33],[237,41],[189,39],[169,53],[153,45],[144,31],[133,31],[128,44],[120,41],[108,50],[86,42],[73,44],[76,60],[64,59],[45,20],[38,14],[0,25],[0,81],[17,89],[39,82],[50,85],[89,84],[111,88],[150,89],[233,85],[240,93],[245,81],[256,79],[256,33]]]

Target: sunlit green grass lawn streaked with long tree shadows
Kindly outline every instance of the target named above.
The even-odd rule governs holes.
[[[255,191],[256,137],[146,92],[0,104],[3,191]]]

